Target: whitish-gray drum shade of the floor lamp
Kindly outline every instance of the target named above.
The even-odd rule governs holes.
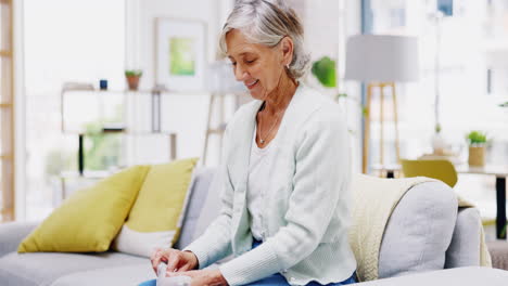
[[[357,35],[347,39],[346,79],[404,82],[418,80],[418,77],[416,37]]]

